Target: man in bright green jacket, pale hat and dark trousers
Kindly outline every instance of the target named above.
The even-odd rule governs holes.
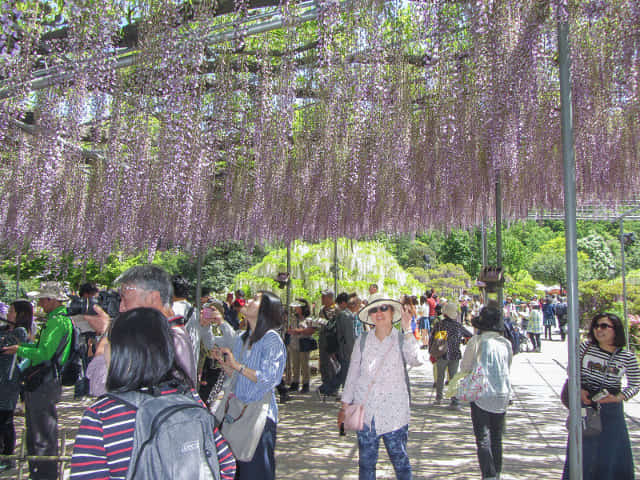
[[[31,294],[38,299],[38,306],[47,314],[46,324],[35,345],[12,345],[3,349],[4,354],[17,354],[30,361],[31,366],[55,361],[64,365],[71,348],[72,324],[67,316],[64,302],[67,295],[58,282],[44,282],[38,292]],[[58,414],[56,403],[60,400],[62,387],[56,368],[51,365],[42,383],[33,391],[24,392],[25,424],[27,429],[27,453],[29,455],[57,455]],[[55,480],[58,478],[57,464],[53,461],[29,461],[32,480]]]

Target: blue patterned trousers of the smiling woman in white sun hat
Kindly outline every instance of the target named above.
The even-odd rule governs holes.
[[[409,438],[409,425],[394,430],[393,432],[378,435],[376,433],[375,420],[371,420],[371,428],[365,424],[358,432],[358,451],[360,456],[360,480],[374,480],[376,478],[376,464],[378,463],[378,449],[380,438],[384,441],[389,459],[396,471],[398,480],[411,480],[411,464],[407,453],[407,439]]]

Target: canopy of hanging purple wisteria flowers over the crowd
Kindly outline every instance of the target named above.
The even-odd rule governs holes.
[[[553,1],[318,0],[303,25],[285,2],[282,27],[255,36],[250,0],[226,19],[190,3],[188,22],[174,1],[135,3],[126,68],[113,45],[129,2],[65,2],[68,32],[46,54],[37,12],[3,3],[5,249],[104,257],[469,225],[493,208],[497,172],[507,217],[562,206]],[[568,7],[578,195],[615,203],[640,187],[640,6]],[[233,38],[208,43],[224,21]],[[70,75],[31,90],[47,62]]]

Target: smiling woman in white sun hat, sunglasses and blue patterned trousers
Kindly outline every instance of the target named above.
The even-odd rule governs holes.
[[[380,439],[389,454],[396,477],[411,478],[407,453],[409,432],[409,377],[406,365],[423,363],[420,342],[411,331],[411,312],[400,302],[375,294],[358,313],[374,328],[356,339],[342,392],[338,426],[349,404],[364,406],[364,425],[358,434],[359,478],[373,480]],[[393,328],[401,321],[402,331]]]

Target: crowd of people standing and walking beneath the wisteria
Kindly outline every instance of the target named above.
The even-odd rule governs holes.
[[[13,411],[20,396],[28,454],[57,454],[61,372],[79,356],[75,397],[97,400],[78,429],[72,479],[125,478],[131,471],[160,478],[158,465],[167,478],[179,468],[192,478],[273,479],[278,404],[311,393],[341,402],[338,428],[357,432],[360,479],[375,478],[380,440],[396,477],[410,479],[407,367],[431,363],[435,404],[444,400],[448,382],[448,408],[454,410],[461,408],[458,395],[467,397],[460,379],[483,372],[480,393],[470,400],[470,428],[481,476],[495,479],[502,470],[513,355],[527,342],[540,352],[541,335],[552,340],[556,327],[561,340],[566,335],[563,297],[508,297],[503,305],[483,305],[467,291],[447,299],[431,289],[396,300],[371,284],[365,298],[323,290],[318,305],[305,298],[283,305],[266,291],[247,298],[237,290],[224,300],[203,291],[197,309],[189,282],[157,266],[132,267],[116,283],[116,312],[113,295],[99,301],[92,284],[81,286],[69,302],[60,283],[45,282],[31,299],[10,305],[8,327],[0,332],[3,454],[15,448]],[[46,316],[38,334],[34,300]],[[633,461],[621,402],[640,390],[640,370],[622,328],[615,315],[599,315],[580,349],[582,401],[598,408],[603,424],[599,435],[584,442],[585,478],[632,478],[626,476]],[[316,350],[320,385],[312,392]],[[180,434],[170,440],[162,436],[162,422],[173,414],[158,413],[169,408],[193,412],[182,414]],[[189,452],[182,463],[172,454],[153,456],[169,441]],[[603,442],[610,460],[592,455]],[[14,463],[2,461],[0,467]],[[49,459],[29,460],[29,470],[35,480],[58,478]]]

